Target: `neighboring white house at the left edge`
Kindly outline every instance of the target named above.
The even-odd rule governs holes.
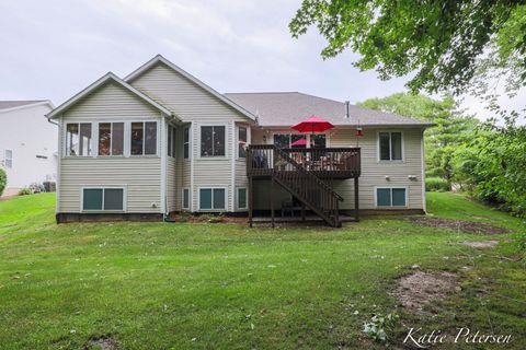
[[[58,128],[45,117],[53,108],[49,101],[0,101],[0,166],[8,175],[3,196],[56,180]]]

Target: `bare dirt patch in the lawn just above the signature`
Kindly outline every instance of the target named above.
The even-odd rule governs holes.
[[[457,276],[450,272],[430,273],[416,271],[400,278],[397,289],[391,293],[403,307],[416,313],[433,301],[444,299],[458,287]]]

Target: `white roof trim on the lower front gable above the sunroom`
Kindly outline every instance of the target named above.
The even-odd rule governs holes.
[[[88,88],[85,88],[84,90],[82,90],[81,92],[79,92],[78,94],[72,96],[71,98],[69,98],[68,101],[62,103],[60,106],[53,109],[50,113],[48,113],[46,115],[46,117],[49,118],[49,119],[56,118],[57,116],[59,116],[60,114],[62,114],[64,112],[69,109],[70,107],[75,106],[83,97],[88,96],[90,93],[95,91],[98,88],[104,85],[105,83],[107,83],[110,81],[113,81],[113,82],[117,83],[119,86],[122,86],[122,88],[126,89],[127,91],[132,92],[134,95],[136,95],[140,100],[145,101],[149,105],[153,106],[155,108],[159,109],[160,112],[164,113],[165,115],[173,116],[173,113],[170,109],[162,106],[158,102],[151,100],[149,96],[141,93],[140,91],[138,91],[134,86],[129,85],[128,83],[126,83],[124,80],[122,80],[121,78],[118,78],[114,73],[108,72],[108,73],[104,74],[102,78],[100,78],[99,80],[96,80],[94,83],[92,83],[91,85],[89,85]]]

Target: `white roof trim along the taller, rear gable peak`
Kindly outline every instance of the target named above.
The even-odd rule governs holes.
[[[238,113],[240,113],[242,116],[249,118],[250,120],[254,121],[255,120],[255,116],[250,113],[249,110],[247,110],[245,108],[243,108],[242,106],[236,104],[233,101],[231,101],[230,98],[226,97],[225,95],[220,94],[219,92],[217,92],[216,90],[214,90],[213,88],[210,88],[209,85],[205,84],[204,82],[202,82],[201,80],[198,80],[197,78],[195,78],[194,75],[190,74],[188,72],[186,72],[185,70],[183,70],[182,68],[180,68],[179,66],[172,63],[171,61],[169,61],[168,59],[165,59],[164,57],[162,57],[161,55],[157,55],[156,57],[153,57],[152,59],[150,59],[148,62],[146,62],[145,65],[142,65],[141,67],[139,67],[138,69],[136,69],[134,72],[132,72],[130,74],[128,74],[124,80],[126,82],[132,82],[133,80],[139,78],[140,75],[142,75],[145,72],[147,72],[148,70],[150,70],[151,68],[156,67],[158,63],[163,63],[164,66],[167,66],[168,68],[172,69],[173,71],[175,71],[176,73],[179,73],[180,75],[184,77],[185,79],[187,79],[188,81],[193,82],[195,85],[197,85],[198,88],[203,89],[204,91],[206,91],[207,93],[209,93],[210,95],[213,95],[214,97],[216,97],[217,100],[219,100],[220,102],[225,103],[227,106],[233,108],[235,110],[237,110]]]

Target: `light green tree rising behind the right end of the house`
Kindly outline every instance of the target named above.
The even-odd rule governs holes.
[[[470,139],[479,124],[476,118],[464,116],[450,95],[438,101],[424,95],[397,93],[384,98],[366,100],[358,105],[435,122],[436,126],[424,135],[427,174],[443,177],[448,183],[453,179],[451,154],[459,144]]]

